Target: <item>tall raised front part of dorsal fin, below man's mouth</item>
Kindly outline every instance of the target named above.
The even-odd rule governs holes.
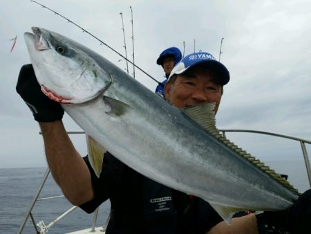
[[[216,129],[214,108],[215,103],[205,103],[193,107],[185,107],[182,111],[204,129],[214,132],[215,130],[218,131]]]

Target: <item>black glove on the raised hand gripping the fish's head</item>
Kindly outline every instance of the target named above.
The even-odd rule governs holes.
[[[64,109],[42,93],[32,64],[26,64],[19,71],[16,91],[26,102],[38,122],[54,122],[62,120]]]

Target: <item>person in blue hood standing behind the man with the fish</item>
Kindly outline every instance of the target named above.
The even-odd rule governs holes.
[[[157,64],[161,65],[163,71],[165,73],[165,80],[163,80],[158,86],[156,87],[156,93],[162,97],[164,97],[164,85],[167,82],[167,78],[169,78],[169,74],[173,67],[180,62],[182,59],[182,53],[180,52],[179,48],[170,47],[162,51],[160,53]]]

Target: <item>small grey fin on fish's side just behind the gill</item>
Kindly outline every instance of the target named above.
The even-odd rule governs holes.
[[[109,96],[104,96],[102,100],[104,101],[104,105],[106,105],[105,113],[109,114],[109,116],[114,116],[114,117],[122,116],[130,108],[130,106],[127,105],[126,103],[120,100],[116,100],[114,98],[110,98]]]

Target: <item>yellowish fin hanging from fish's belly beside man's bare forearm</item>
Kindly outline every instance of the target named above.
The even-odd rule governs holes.
[[[106,150],[100,143],[97,143],[91,136],[86,135],[86,145],[88,149],[88,161],[99,178],[102,172],[102,161],[104,160],[104,154]]]

